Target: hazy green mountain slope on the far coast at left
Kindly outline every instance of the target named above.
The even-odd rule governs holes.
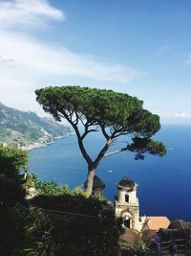
[[[71,132],[71,128],[52,119],[41,118],[31,111],[20,111],[0,103],[0,143],[35,148]]]

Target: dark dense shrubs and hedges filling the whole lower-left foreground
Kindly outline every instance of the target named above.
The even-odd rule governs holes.
[[[144,255],[139,245],[118,244],[120,220],[104,208],[110,203],[34,175],[24,180],[21,172],[27,160],[25,151],[0,145],[0,255]],[[29,187],[38,193],[31,202],[26,200]],[[44,207],[47,202],[49,207]],[[60,205],[70,213],[60,214]]]

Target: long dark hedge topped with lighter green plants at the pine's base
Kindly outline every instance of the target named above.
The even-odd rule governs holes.
[[[59,187],[53,181],[39,181],[35,175],[29,176],[26,184],[33,184],[38,194],[31,203],[43,209],[98,216],[103,206],[112,205],[104,198],[86,198],[79,187],[70,191],[67,186]]]

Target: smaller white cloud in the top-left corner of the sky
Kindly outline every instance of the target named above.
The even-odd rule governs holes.
[[[48,20],[64,20],[65,13],[47,0],[12,0],[0,2],[0,26],[42,26]]]

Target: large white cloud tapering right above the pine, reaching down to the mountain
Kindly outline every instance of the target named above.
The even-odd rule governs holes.
[[[126,84],[142,75],[136,69],[77,55],[23,33],[0,33],[0,101],[7,105],[39,111],[34,101],[37,87],[80,80]]]

